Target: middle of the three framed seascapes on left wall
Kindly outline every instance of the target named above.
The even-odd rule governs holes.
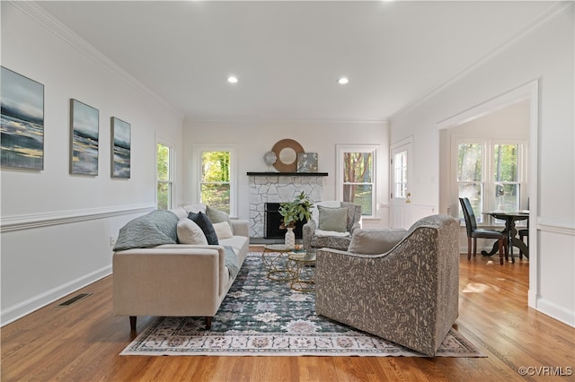
[[[70,100],[70,174],[98,175],[100,112]]]

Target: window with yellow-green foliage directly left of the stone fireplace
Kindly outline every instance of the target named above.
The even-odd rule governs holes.
[[[236,216],[235,148],[213,144],[194,144],[198,169],[196,200]]]

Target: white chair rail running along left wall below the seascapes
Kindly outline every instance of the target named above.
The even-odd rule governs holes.
[[[7,216],[0,219],[0,232],[30,230],[31,228],[49,227],[77,221],[106,219],[132,213],[146,213],[154,209],[154,204],[131,204],[87,210],[62,211],[57,213],[35,213]]]

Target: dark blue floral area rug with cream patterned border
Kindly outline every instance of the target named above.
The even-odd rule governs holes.
[[[120,355],[424,357],[317,316],[314,296],[268,279],[261,254],[250,253],[209,331],[203,317],[158,317]],[[437,356],[484,357],[453,328]]]

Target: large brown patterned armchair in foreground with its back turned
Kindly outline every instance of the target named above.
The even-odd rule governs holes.
[[[432,215],[404,232],[358,230],[354,252],[318,249],[317,314],[434,356],[458,316],[458,232]]]

